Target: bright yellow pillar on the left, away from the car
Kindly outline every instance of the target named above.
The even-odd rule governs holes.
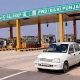
[[[17,39],[17,46],[16,48],[19,49],[20,48],[20,20],[17,19],[16,20],[16,39]]]

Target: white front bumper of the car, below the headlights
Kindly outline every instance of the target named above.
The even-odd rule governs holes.
[[[62,70],[62,63],[35,63],[35,67],[41,69],[50,69],[50,70]]]

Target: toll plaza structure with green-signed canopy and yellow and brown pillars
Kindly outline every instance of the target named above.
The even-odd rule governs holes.
[[[21,27],[37,24],[39,43],[37,47],[41,47],[41,24],[59,22],[60,42],[63,42],[65,36],[63,23],[66,19],[73,21],[73,39],[76,41],[76,21],[80,20],[80,2],[3,14],[0,15],[0,28],[10,28],[10,40],[12,40],[13,27],[16,27],[16,49],[18,50],[21,48]]]

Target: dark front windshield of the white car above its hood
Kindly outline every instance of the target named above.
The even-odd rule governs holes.
[[[44,52],[58,52],[66,53],[68,50],[68,44],[52,44]]]

